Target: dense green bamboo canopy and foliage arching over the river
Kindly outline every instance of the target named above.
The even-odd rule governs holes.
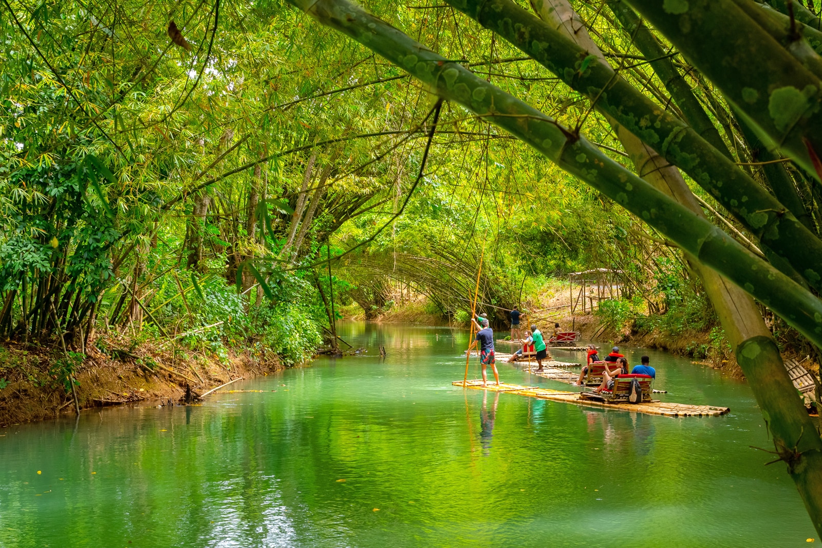
[[[293,4],[2,0],[3,337],[295,363],[335,300],[464,318],[482,262],[504,324],[605,267],[721,324],[822,530],[780,357],[822,343],[814,0]]]

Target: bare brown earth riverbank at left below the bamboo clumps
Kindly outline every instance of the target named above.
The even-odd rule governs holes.
[[[273,352],[252,355],[232,349],[220,355],[205,347],[169,340],[137,343],[120,333],[89,341],[79,355],[29,345],[0,346],[0,426],[73,414],[69,374],[82,409],[128,402],[180,401],[234,378],[253,378],[284,369]]]

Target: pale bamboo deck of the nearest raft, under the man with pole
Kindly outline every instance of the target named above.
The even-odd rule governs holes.
[[[520,396],[538,397],[539,399],[551,400],[553,402],[574,403],[578,406],[607,407],[609,409],[634,411],[648,415],[721,416],[731,411],[729,407],[692,406],[686,403],[659,402],[658,400],[648,403],[605,403],[593,400],[582,400],[580,399],[579,392],[562,392],[550,388],[521,386],[520,384],[501,383],[497,386],[494,383],[488,383],[487,387],[483,387],[482,380],[469,380],[468,383],[465,384],[462,381],[454,381],[451,384],[454,386],[464,386],[465,388],[484,388],[492,392],[509,392]]]

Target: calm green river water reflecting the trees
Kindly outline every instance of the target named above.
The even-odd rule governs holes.
[[[643,416],[453,387],[464,331],[339,332],[369,352],[232,386],[264,392],[0,429],[0,546],[809,546],[816,536],[785,466],[764,467],[771,455],[749,448],[772,444],[739,380],[628,348],[631,364],[651,356],[663,398],[731,407]],[[506,382],[568,388],[499,369]]]

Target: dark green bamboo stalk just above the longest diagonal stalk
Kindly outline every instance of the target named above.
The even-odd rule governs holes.
[[[580,48],[512,0],[446,0],[529,53],[597,108],[673,165],[689,174],[761,244],[789,262],[810,286],[822,289],[822,241],[767,190],[681,120],[646,98],[606,63]],[[500,14],[504,13],[505,17]],[[810,249],[813,249],[810,252]]]

